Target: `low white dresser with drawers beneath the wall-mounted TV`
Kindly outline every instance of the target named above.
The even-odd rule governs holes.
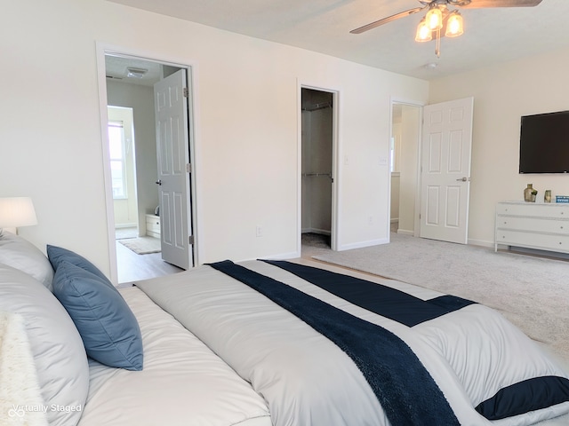
[[[569,253],[569,204],[499,202],[494,250],[499,244]]]

